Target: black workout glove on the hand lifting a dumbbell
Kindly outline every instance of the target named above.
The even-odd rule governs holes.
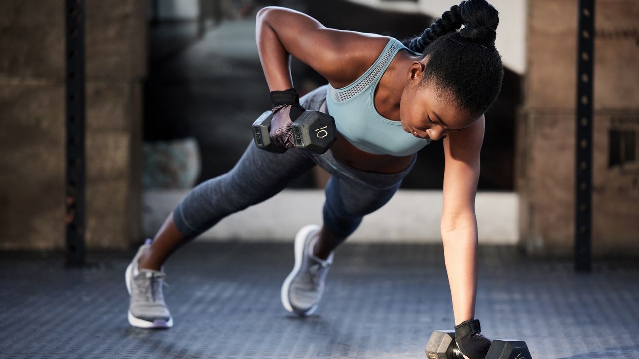
[[[295,147],[291,125],[305,111],[304,107],[300,106],[299,95],[292,88],[284,91],[271,91],[271,103],[273,104],[273,109],[271,109],[273,118],[268,137],[277,146]]]

